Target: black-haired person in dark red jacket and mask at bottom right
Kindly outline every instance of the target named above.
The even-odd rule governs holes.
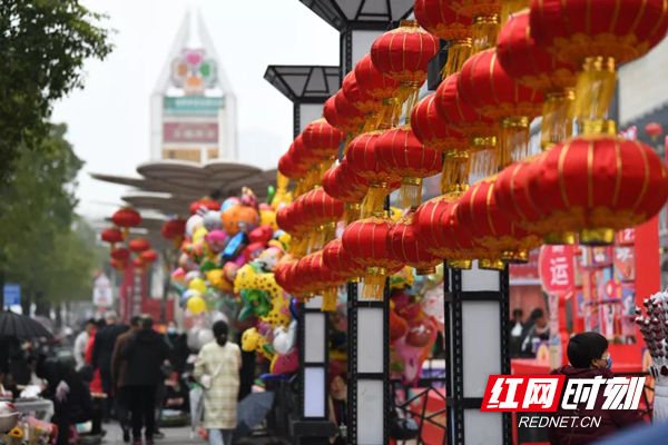
[[[559,369],[552,370],[553,375],[564,375],[563,392],[568,382],[576,378],[612,378],[610,370],[612,357],[608,352],[608,339],[598,333],[582,333],[574,335],[568,343],[568,360]],[[562,392],[562,394],[563,394]],[[605,387],[598,390],[597,399],[592,409],[586,409],[587,403],[579,403],[577,409],[563,409],[562,400],[553,413],[556,417],[600,417],[600,425],[583,427],[579,422],[569,422],[568,427],[559,428],[550,426],[548,433],[551,445],[583,445],[599,439],[619,429],[640,422],[642,415],[638,409],[602,409],[606,397]],[[572,400],[571,400],[572,402]],[[572,426],[574,425],[574,426]]]

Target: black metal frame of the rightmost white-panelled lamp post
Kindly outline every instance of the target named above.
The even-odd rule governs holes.
[[[448,445],[464,445],[464,411],[482,407],[482,397],[464,397],[463,301],[498,301],[500,313],[501,374],[510,374],[510,285],[509,271],[499,273],[499,291],[464,291],[462,271],[445,268],[445,393],[448,409]],[[512,416],[503,413],[503,443],[512,443]]]

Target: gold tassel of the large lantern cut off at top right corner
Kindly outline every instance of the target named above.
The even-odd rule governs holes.
[[[611,57],[588,57],[582,62],[576,86],[573,112],[578,123],[602,121],[615,96],[617,71]]]

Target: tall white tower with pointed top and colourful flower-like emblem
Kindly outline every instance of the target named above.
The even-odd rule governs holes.
[[[236,99],[202,16],[187,12],[151,96],[150,159],[236,160]]]

